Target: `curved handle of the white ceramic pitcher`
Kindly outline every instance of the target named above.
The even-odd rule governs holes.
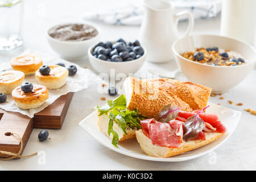
[[[179,13],[175,14],[175,24],[176,24],[176,32],[177,32],[177,24],[181,18],[188,17],[188,28],[185,31],[185,34],[181,37],[189,35],[194,27],[194,16],[189,11],[180,11]]]

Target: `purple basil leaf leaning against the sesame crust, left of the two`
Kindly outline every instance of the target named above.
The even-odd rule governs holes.
[[[156,121],[168,123],[172,119],[177,118],[177,115],[179,114],[180,107],[177,107],[172,104],[164,105],[158,114],[155,115]]]

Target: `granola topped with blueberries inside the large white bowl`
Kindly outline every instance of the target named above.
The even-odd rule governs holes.
[[[195,51],[181,53],[181,56],[196,61],[197,63],[218,65],[218,66],[236,66],[245,64],[241,57],[234,57],[229,50],[218,51],[217,47],[197,48]]]

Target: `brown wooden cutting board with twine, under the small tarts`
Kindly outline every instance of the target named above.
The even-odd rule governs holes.
[[[42,129],[60,129],[73,93],[58,98],[46,109],[36,113],[34,118],[26,115],[0,109],[0,150],[16,153],[20,148],[20,140],[10,133],[16,133],[22,138],[23,150],[34,127]],[[8,156],[0,154],[0,158]]]

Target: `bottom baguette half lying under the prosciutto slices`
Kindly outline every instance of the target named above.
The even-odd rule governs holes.
[[[196,148],[205,146],[206,144],[209,144],[214,140],[217,140],[224,134],[224,133],[217,133],[217,132],[205,133],[205,140],[189,140],[188,142],[185,142],[183,140],[183,143],[180,147],[172,148],[172,147],[155,146],[154,144],[152,144],[151,139],[146,137],[146,135],[144,135],[142,130],[137,130],[135,133],[136,133],[136,138],[139,144],[141,145],[141,149],[147,155],[154,156],[157,158],[168,158],[170,156],[175,156],[175,155],[183,154],[184,152],[195,150]]]

